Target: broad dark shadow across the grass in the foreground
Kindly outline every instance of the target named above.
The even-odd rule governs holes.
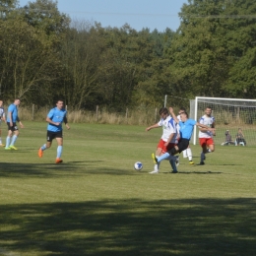
[[[1,206],[0,248],[19,255],[255,255],[256,199]]]

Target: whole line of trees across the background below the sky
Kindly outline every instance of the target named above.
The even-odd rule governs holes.
[[[254,98],[255,0],[188,0],[176,32],[72,21],[57,2],[0,2],[0,97],[123,111],[163,96]]]

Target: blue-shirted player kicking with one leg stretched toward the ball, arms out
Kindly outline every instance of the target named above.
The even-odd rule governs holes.
[[[178,123],[180,126],[180,130],[179,130],[180,139],[178,141],[178,144],[174,148],[172,148],[169,152],[166,152],[165,154],[160,156],[160,158],[156,158],[156,156],[154,156],[153,159],[155,163],[158,163],[161,160],[166,160],[169,158],[172,160],[175,160],[174,155],[186,150],[189,145],[189,141],[192,136],[195,125],[200,126],[200,128],[205,128],[206,130],[209,130],[209,131],[213,131],[213,132],[215,131],[214,128],[198,123],[193,119],[189,119],[188,114],[186,112],[183,112],[180,114],[181,121],[179,121],[176,115],[174,114],[172,107],[169,107],[169,112],[173,117],[174,121]]]

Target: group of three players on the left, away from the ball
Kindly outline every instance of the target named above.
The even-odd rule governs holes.
[[[21,103],[20,98],[15,98],[14,102],[8,106],[7,118],[5,116],[5,110],[3,106],[3,100],[0,100],[0,124],[1,121],[5,121],[8,127],[8,135],[6,137],[6,145],[2,144],[1,129],[0,129],[0,146],[5,147],[6,151],[17,151],[15,143],[20,134],[17,122],[20,123],[21,128],[24,128],[18,115],[18,106]],[[57,100],[56,106],[50,109],[46,116],[47,133],[46,133],[46,144],[43,144],[38,150],[38,157],[42,158],[43,152],[51,147],[52,140],[56,139],[57,156],[55,163],[61,163],[61,155],[63,151],[63,134],[62,134],[62,123],[64,122],[67,129],[70,127],[67,121],[67,111],[64,109],[63,100]]]

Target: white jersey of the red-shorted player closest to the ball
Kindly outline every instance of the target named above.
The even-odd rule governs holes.
[[[174,119],[171,116],[167,116],[165,120],[162,118],[159,121],[159,126],[162,127],[162,135],[161,140],[166,142],[169,136],[174,133],[173,138],[171,139],[170,143],[177,143],[177,127]]]

